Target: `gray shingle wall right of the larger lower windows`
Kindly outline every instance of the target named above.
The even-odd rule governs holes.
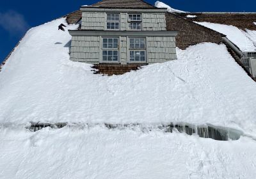
[[[147,37],[148,63],[161,63],[177,59],[175,37]]]

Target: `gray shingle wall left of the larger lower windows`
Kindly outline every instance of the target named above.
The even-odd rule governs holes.
[[[99,58],[99,36],[72,36],[70,60],[97,64]]]

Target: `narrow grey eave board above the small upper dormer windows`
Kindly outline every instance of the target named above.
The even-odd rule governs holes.
[[[102,8],[95,6],[81,6],[82,12],[141,12],[141,13],[166,13],[167,8]]]

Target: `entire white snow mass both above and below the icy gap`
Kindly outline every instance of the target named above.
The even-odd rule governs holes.
[[[256,176],[256,84],[225,45],[177,49],[178,60],[108,77],[69,60],[71,37],[58,31],[61,23],[29,30],[0,72],[0,178]],[[78,125],[29,132],[30,121]],[[85,125],[170,122],[211,123],[246,135],[214,141]]]

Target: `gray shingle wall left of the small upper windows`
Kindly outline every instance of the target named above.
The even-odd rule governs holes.
[[[83,12],[81,29],[83,30],[104,30],[105,13]]]

